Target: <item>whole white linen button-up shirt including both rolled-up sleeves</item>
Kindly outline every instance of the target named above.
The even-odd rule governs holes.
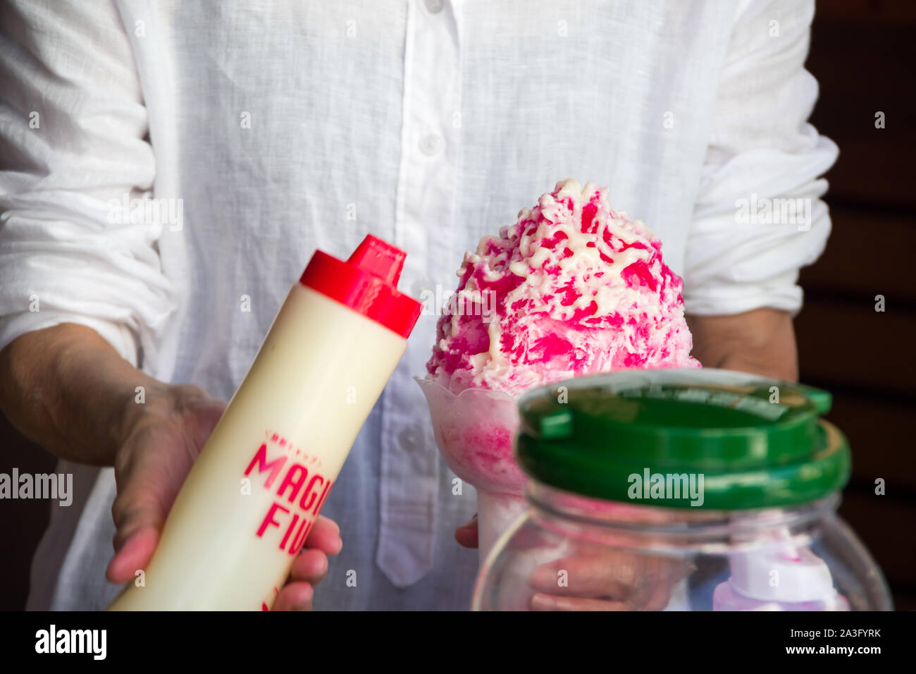
[[[797,312],[798,270],[829,233],[818,176],[836,149],[806,123],[812,2],[0,12],[0,347],[80,323],[228,399],[313,249],[345,257],[372,232],[408,251],[404,291],[451,291],[464,250],[567,177],[659,235],[693,314]],[[120,213],[145,197],[171,210]],[[740,215],[784,197],[807,200],[805,227]],[[453,530],[474,490],[453,493],[410,380],[435,320],[420,317],[324,508],[344,549],[317,608],[468,605],[477,558]],[[59,470],[75,498],[52,506],[28,607],[99,609],[118,591],[113,470]]]

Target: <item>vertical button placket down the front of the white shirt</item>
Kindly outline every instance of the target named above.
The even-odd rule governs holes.
[[[408,6],[394,238],[408,252],[401,287],[414,297],[435,293],[431,279],[456,264],[461,81],[453,5],[409,0]],[[420,317],[382,400],[376,563],[398,587],[420,580],[433,563],[439,460],[426,402],[412,377],[429,358],[434,327],[435,316]]]

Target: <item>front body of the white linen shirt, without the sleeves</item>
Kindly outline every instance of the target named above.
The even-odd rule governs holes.
[[[228,399],[313,249],[343,257],[372,232],[407,250],[404,291],[449,292],[465,250],[567,177],[607,186],[682,271],[730,3],[118,6],[150,116],[154,196],[180,201],[180,227],[158,243],[181,302],[170,381]],[[344,551],[319,606],[467,605],[476,555],[452,532],[474,490],[454,495],[410,381],[435,320],[420,316],[385,393],[397,403],[376,405],[324,509]],[[411,553],[431,571],[407,590],[376,569],[390,558],[386,470],[416,471],[438,503],[432,559]],[[362,588],[346,582],[354,570]]]

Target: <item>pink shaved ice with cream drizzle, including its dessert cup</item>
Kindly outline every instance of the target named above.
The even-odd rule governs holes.
[[[512,455],[521,392],[571,377],[691,368],[681,278],[649,227],[594,182],[558,182],[464,255],[425,379],[436,441],[477,489],[481,558],[524,509]]]

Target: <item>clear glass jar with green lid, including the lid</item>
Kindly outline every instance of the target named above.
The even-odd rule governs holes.
[[[472,609],[890,610],[878,566],[835,514],[850,464],[818,418],[829,394],[719,372],[601,375],[524,396],[529,510],[485,559]]]

